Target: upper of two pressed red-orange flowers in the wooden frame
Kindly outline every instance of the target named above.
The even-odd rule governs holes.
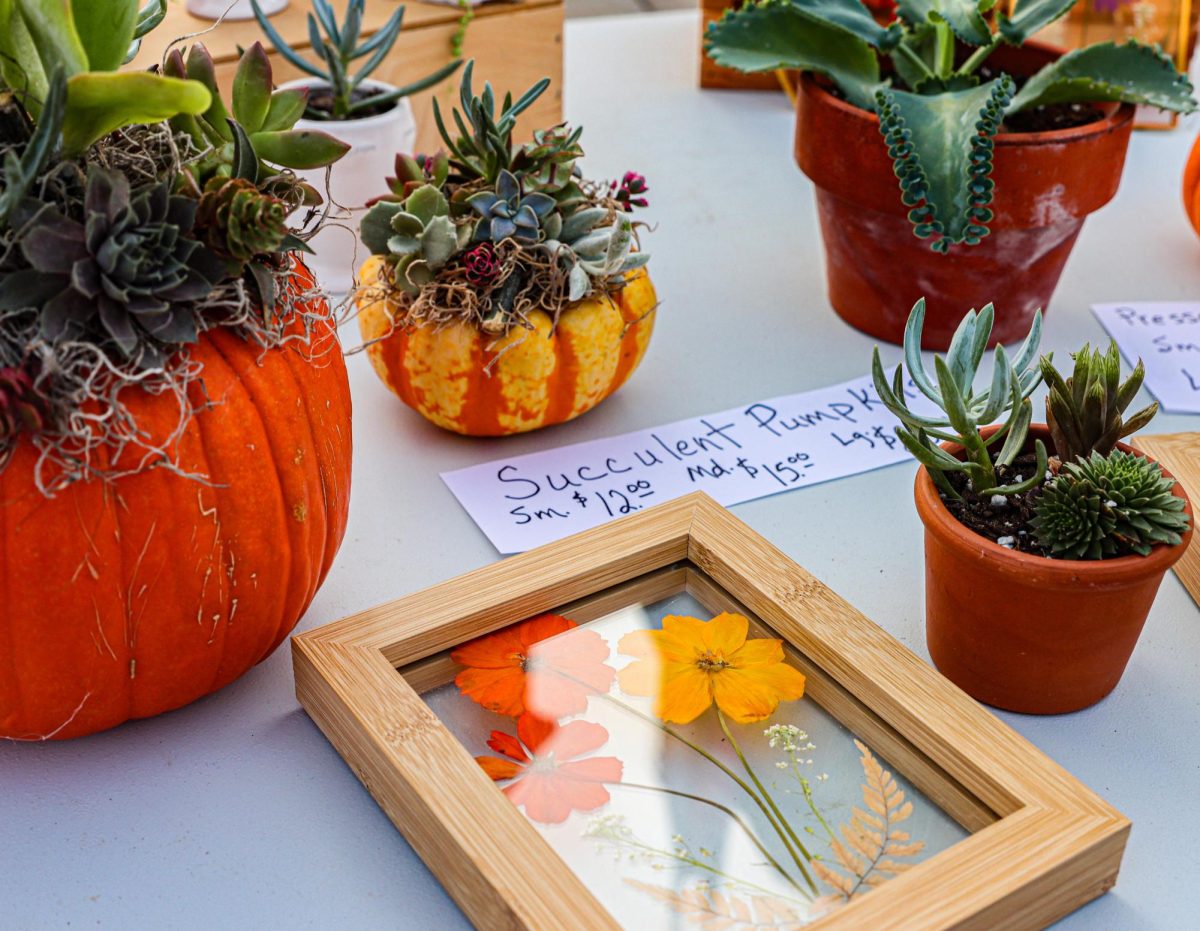
[[[589,695],[608,691],[616,675],[605,662],[608,653],[594,630],[539,614],[472,641],[450,657],[467,667],[455,678],[458,690],[490,711],[557,720],[586,710]]]

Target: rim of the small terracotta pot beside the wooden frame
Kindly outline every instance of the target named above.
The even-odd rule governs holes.
[[[982,432],[984,436],[990,436],[996,430],[998,430],[998,426],[985,427]],[[1046,439],[1050,436],[1050,430],[1045,424],[1033,424],[1030,426],[1030,434]],[[952,455],[958,455],[962,451],[962,446],[956,443],[943,443],[942,449]],[[1117,449],[1152,460],[1151,456],[1146,456],[1141,450],[1134,449],[1126,443],[1118,443]],[[1152,461],[1158,462],[1157,460]],[[1163,475],[1175,479],[1175,475],[1165,466],[1160,462],[1158,466],[1163,470]],[[1183,499],[1183,510],[1192,516],[1192,525],[1183,534],[1183,539],[1178,546],[1157,543],[1150,551],[1150,555],[1132,554],[1117,557],[1116,559],[1051,559],[1049,557],[1033,555],[1032,553],[1021,553],[1001,546],[986,536],[974,533],[974,530],[954,518],[954,515],[950,513],[937,493],[937,487],[934,485],[934,480],[924,466],[917,471],[913,497],[917,504],[917,513],[925,529],[936,534],[944,545],[965,555],[986,555],[989,560],[995,563],[996,571],[1001,573],[1038,575],[1048,584],[1074,585],[1079,583],[1121,584],[1158,572],[1165,572],[1175,565],[1183,557],[1183,553],[1187,552],[1188,543],[1192,541],[1192,533],[1195,529],[1195,515],[1192,511],[1192,499],[1178,479],[1175,480],[1175,487],[1171,491],[1176,498]]]

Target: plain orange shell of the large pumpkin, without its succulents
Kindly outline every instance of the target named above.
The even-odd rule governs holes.
[[[311,283],[298,271],[301,283]],[[192,348],[216,403],[180,466],[44,497],[23,438],[0,471],[0,737],[62,739],[187,704],[295,626],[346,530],[350,395],[334,334],[263,352],[217,329]],[[319,356],[313,359],[313,354]],[[205,394],[200,394],[200,392]],[[151,436],[168,396],[127,389]]]

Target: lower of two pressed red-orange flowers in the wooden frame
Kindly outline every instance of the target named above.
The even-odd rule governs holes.
[[[503,757],[475,757],[497,782],[511,779],[504,794],[541,824],[562,824],[572,811],[594,811],[608,801],[605,782],[620,782],[617,757],[576,757],[599,750],[608,732],[590,721],[556,725],[530,714],[517,735],[492,731],[487,745]]]

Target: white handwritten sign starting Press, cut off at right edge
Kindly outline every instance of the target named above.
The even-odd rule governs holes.
[[[1164,410],[1200,414],[1200,304],[1096,304],[1092,312]]]

